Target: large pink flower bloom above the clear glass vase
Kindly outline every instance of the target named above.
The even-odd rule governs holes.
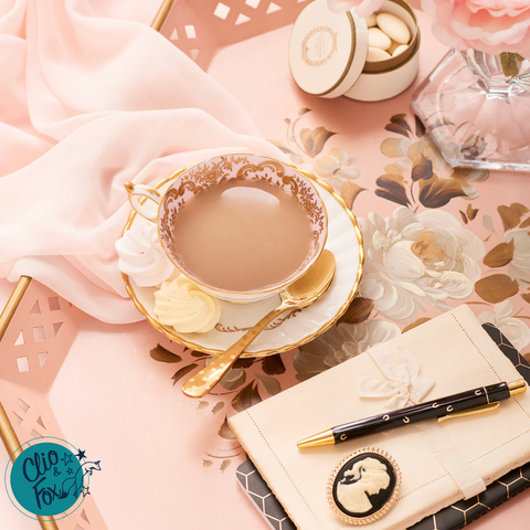
[[[433,33],[456,50],[530,57],[529,0],[422,0]]]

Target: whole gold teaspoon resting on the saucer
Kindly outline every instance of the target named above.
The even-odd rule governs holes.
[[[218,384],[219,380],[240,358],[245,348],[271,324],[278,315],[288,309],[299,309],[317,301],[328,290],[335,276],[335,256],[324,250],[315,265],[280,294],[282,304],[263,317],[237,342],[216,357],[208,367],[189,379],[182,385],[182,392],[190,398],[203,398]]]

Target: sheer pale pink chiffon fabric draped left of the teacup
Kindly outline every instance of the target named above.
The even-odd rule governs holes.
[[[115,242],[124,182],[224,152],[282,158],[239,102],[146,24],[87,0],[0,0],[0,277],[107,322],[142,319]]]

